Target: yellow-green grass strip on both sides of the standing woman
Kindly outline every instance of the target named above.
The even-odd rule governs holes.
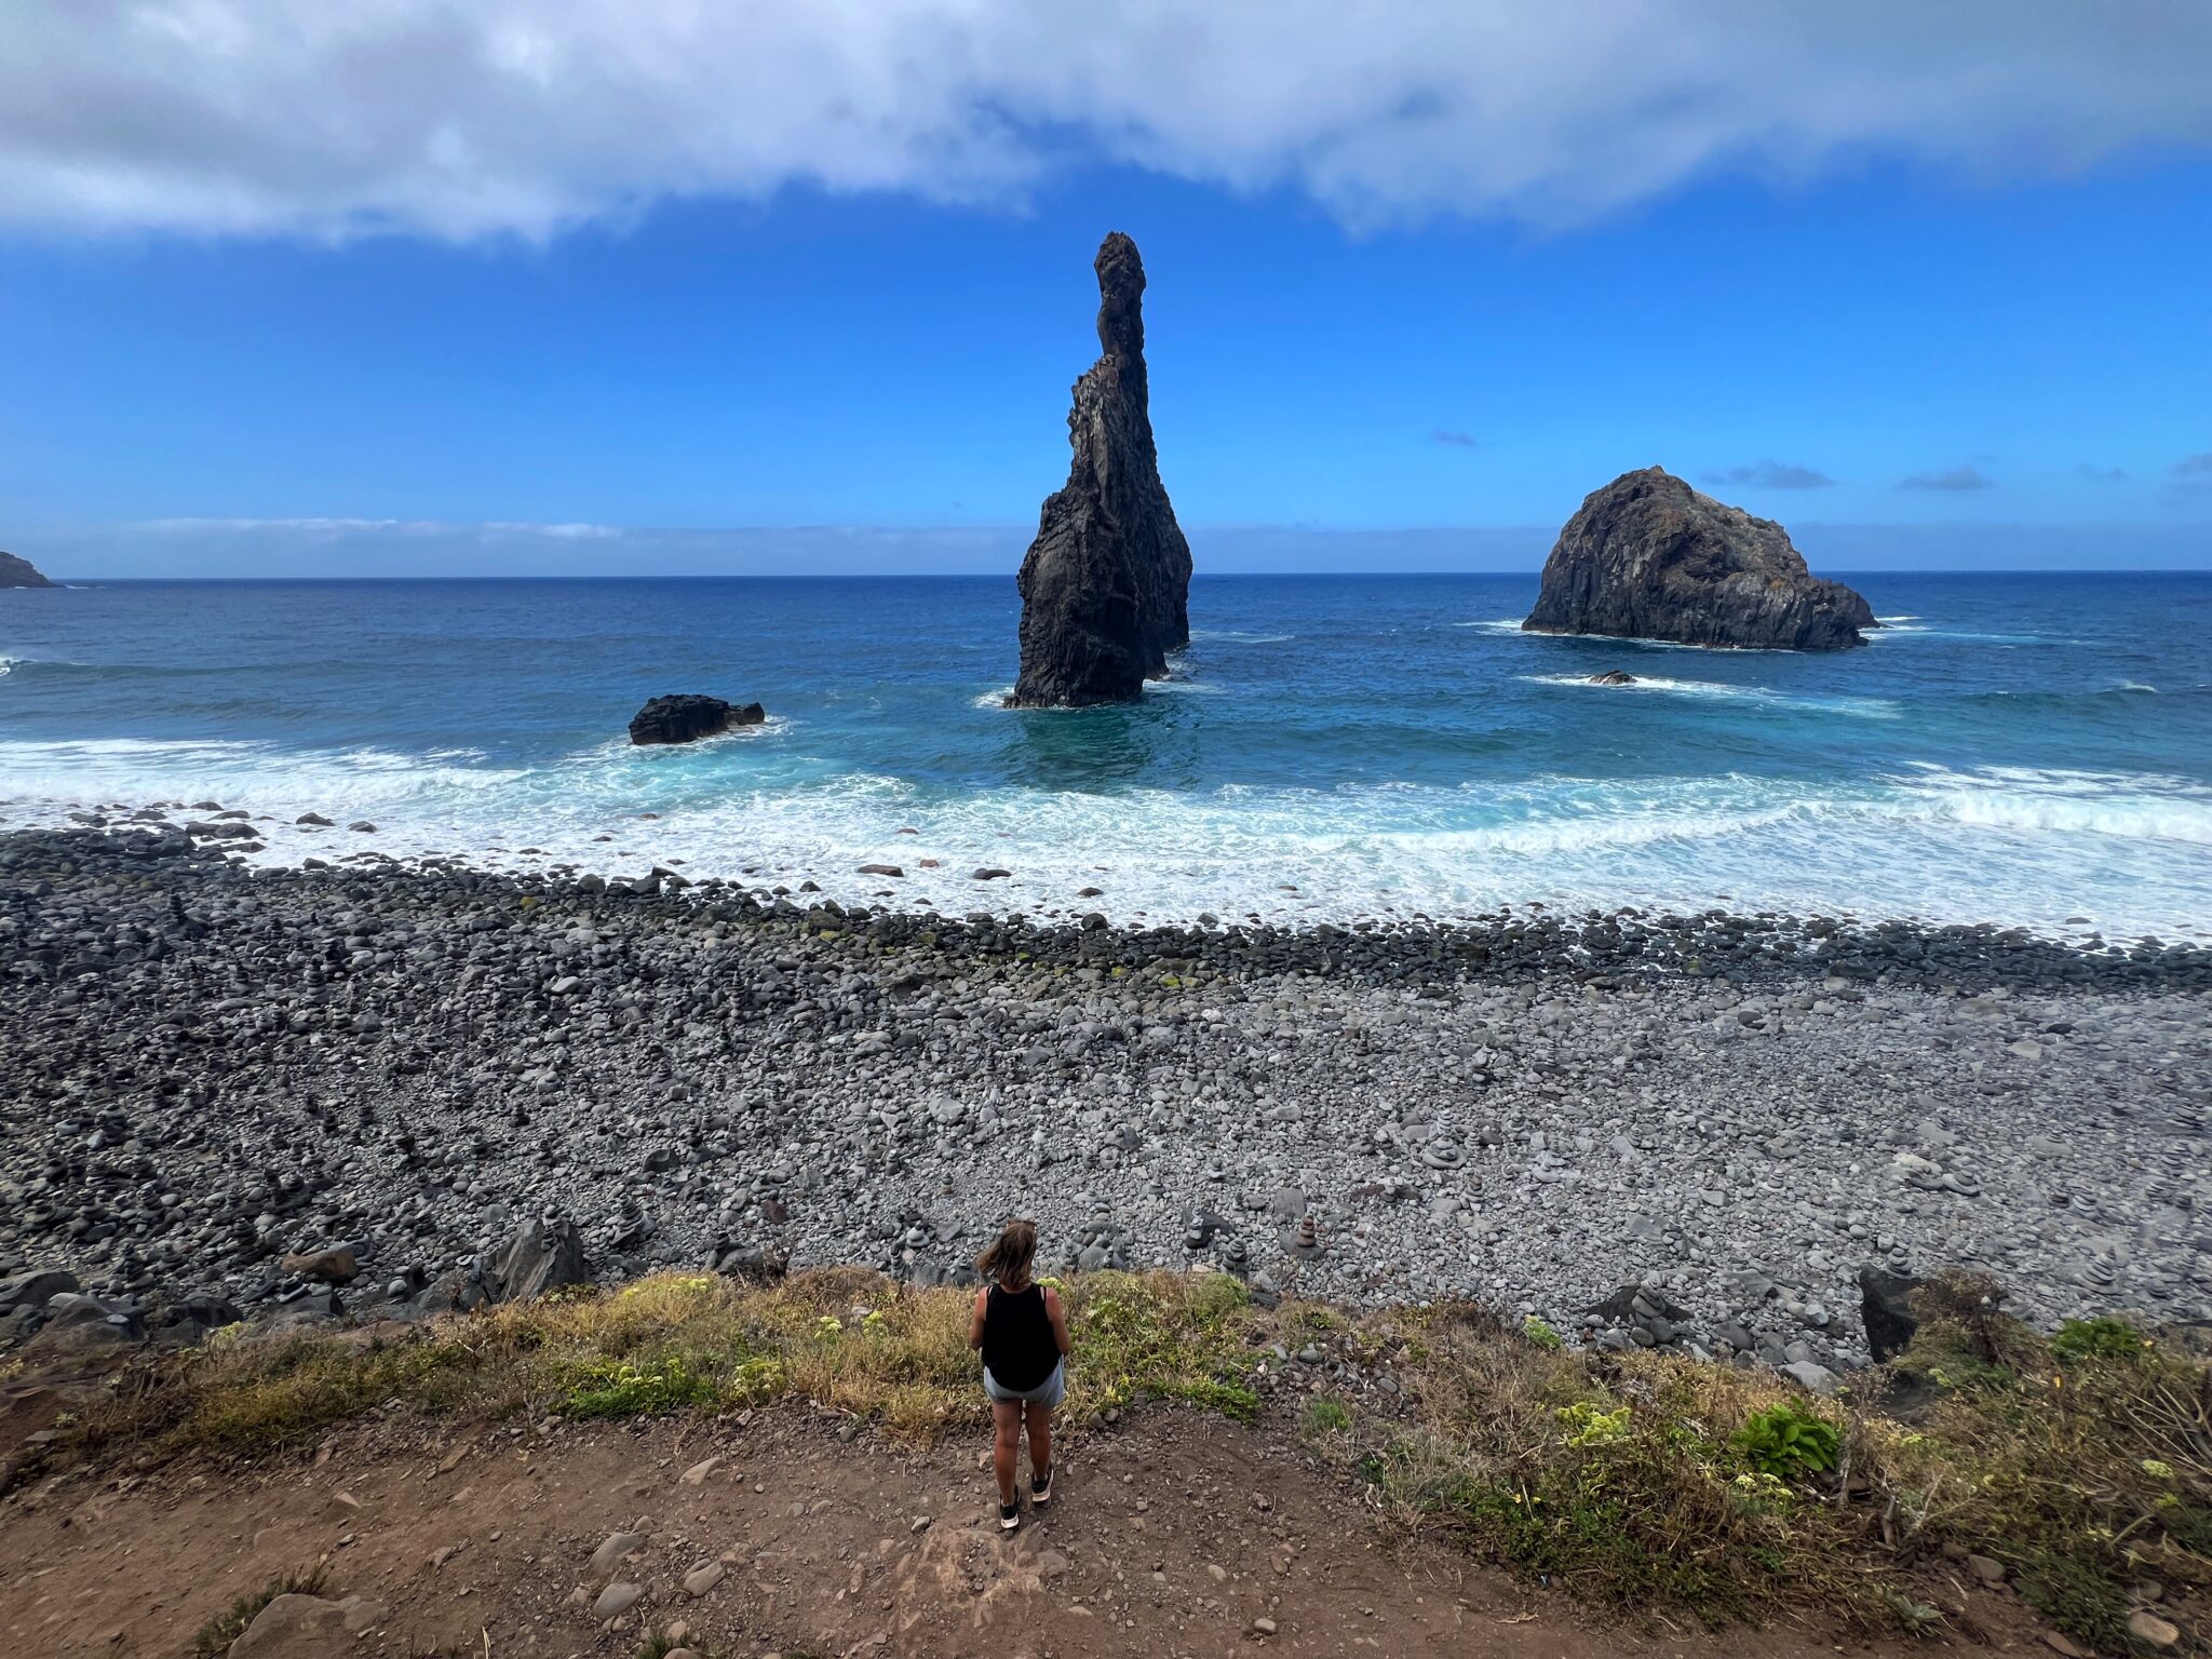
[[[1064,1422],[1141,1400],[1259,1418],[1256,1314],[1234,1279],[1084,1274],[1062,1294],[1075,1338]],[[387,1336],[208,1343],[122,1374],[71,1433],[80,1451],[259,1458],[385,1407],[606,1420],[805,1400],[931,1438],[989,1420],[967,1325],[969,1292],[856,1270],[776,1285],[659,1274]]]

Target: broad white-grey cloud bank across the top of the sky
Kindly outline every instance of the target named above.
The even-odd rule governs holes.
[[[2208,84],[2201,0],[13,0],[0,226],[546,237],[1097,157],[1573,223],[1714,170],[2199,146]]]

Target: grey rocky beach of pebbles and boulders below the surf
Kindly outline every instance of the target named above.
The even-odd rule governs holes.
[[[1088,1267],[1836,1369],[1867,1265],[2212,1318],[2201,947],[1035,925],[217,847],[0,836],[0,1281],[66,1272],[119,1338],[668,1265],[933,1281],[1011,1210]],[[0,1287],[0,1345],[60,1283]]]

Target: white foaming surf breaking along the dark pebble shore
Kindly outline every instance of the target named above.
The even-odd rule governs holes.
[[[2042,931],[2095,916],[2115,938],[2203,936],[2212,918],[2212,790],[2188,779],[1916,765],[1847,785],[1544,774],[947,792],[878,772],[810,772],[787,750],[759,754],[737,768],[639,765],[628,745],[604,745],[522,770],[268,743],[0,743],[0,818],[60,823],[82,805],[215,799],[270,818],[261,863],[354,852],[606,874],[668,863],[754,885],[814,878],[867,905],[927,898],[940,914],[1042,905],[1102,907],[1117,920],[1212,911],[1301,922],[1449,918],[1506,902],[1725,905]],[[301,812],[369,818],[378,834],[301,830]],[[860,876],[863,863],[907,876]],[[982,865],[1020,880],[975,883]],[[1075,898],[1086,885],[1106,896]],[[878,898],[885,887],[896,898]]]

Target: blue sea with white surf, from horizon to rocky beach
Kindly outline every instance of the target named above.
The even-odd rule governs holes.
[[[265,860],[664,863],[953,914],[2208,936],[2212,573],[1845,580],[1891,626],[1816,657],[1522,635],[1533,573],[1199,577],[1175,677],[1082,712],[998,706],[1011,577],[0,593],[0,823],[219,801],[285,825]],[[655,692],[770,721],[633,750]]]

